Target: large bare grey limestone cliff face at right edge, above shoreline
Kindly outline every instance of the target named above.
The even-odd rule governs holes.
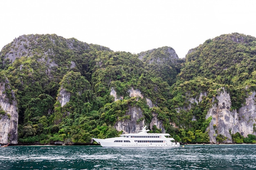
[[[248,134],[256,134],[254,124],[256,124],[256,102],[255,92],[246,99],[246,104],[238,111],[231,111],[231,99],[229,94],[222,88],[222,92],[216,97],[218,104],[213,105],[209,109],[206,119],[212,117],[207,131],[209,133],[210,142],[216,143],[218,134],[227,137],[224,143],[232,143],[231,134],[239,132],[244,137]]]

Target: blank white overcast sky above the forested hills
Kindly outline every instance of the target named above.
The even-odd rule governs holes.
[[[0,49],[24,34],[139,53],[171,46],[180,58],[227,33],[256,37],[256,0],[1,0]]]

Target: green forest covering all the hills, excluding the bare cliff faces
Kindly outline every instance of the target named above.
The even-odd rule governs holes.
[[[23,35],[7,44],[0,53],[0,81],[9,80],[18,100],[19,143],[89,144],[92,137],[115,137],[121,133],[115,123],[130,119],[125,113],[132,106],[143,110],[147,124],[157,114],[177,141],[209,142],[211,117],[205,117],[221,87],[229,91],[232,109],[256,90],[256,38],[221,35],[192,49],[186,62],[170,51],[135,55],[57,35]],[[130,97],[131,88],[144,98]],[[123,99],[115,101],[112,89]],[[200,102],[188,100],[200,95]],[[156,126],[151,131],[161,132]],[[254,137],[232,134],[236,143],[254,143]]]

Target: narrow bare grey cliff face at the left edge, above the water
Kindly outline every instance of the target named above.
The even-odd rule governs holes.
[[[7,97],[6,88],[9,81],[0,82],[0,144],[18,144],[18,108],[13,91],[12,100]]]

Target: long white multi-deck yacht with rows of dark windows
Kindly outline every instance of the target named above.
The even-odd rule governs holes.
[[[103,147],[180,147],[168,133],[147,133],[146,126],[138,133],[129,133],[107,139],[92,138]]]

